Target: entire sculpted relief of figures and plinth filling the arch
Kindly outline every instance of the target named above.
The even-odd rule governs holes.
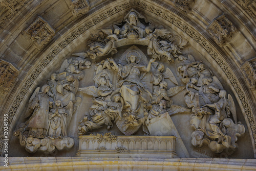
[[[30,97],[27,120],[14,132],[27,152],[152,158],[236,152],[246,129],[233,95],[213,70],[182,53],[188,42],[181,35],[132,9],[91,34],[87,45]]]

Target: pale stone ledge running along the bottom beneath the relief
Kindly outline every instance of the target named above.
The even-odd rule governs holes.
[[[255,159],[9,157],[0,170],[256,170]]]

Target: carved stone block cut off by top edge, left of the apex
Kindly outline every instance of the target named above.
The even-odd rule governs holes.
[[[88,0],[66,0],[66,3],[74,16],[86,14],[90,10]]]

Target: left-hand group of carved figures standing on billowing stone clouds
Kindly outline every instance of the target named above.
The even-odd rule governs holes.
[[[24,114],[29,119],[14,132],[26,151],[53,153],[72,148],[74,139],[68,137],[67,128],[81,102],[76,92],[84,76],[82,70],[90,65],[80,57],[66,59],[47,84],[36,88]]]

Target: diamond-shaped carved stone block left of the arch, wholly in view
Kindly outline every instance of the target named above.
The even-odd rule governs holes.
[[[55,30],[42,17],[38,17],[25,31],[29,39],[34,42],[36,48],[44,47],[55,35]]]

